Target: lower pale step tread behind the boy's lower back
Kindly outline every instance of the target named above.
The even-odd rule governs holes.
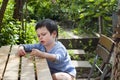
[[[76,60],[72,60],[72,64],[78,68],[78,67],[81,67],[81,68],[91,68],[91,64],[88,62],[88,61],[76,61]]]

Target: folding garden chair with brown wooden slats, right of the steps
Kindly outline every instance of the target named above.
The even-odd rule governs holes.
[[[114,52],[115,42],[105,35],[100,35],[99,42],[97,44],[92,68],[88,75],[88,80],[93,77],[96,80],[109,80],[111,77],[111,59]],[[100,63],[101,61],[101,63]],[[99,63],[98,63],[99,62]],[[97,72],[95,72],[95,70]],[[98,74],[97,74],[98,73]]]

